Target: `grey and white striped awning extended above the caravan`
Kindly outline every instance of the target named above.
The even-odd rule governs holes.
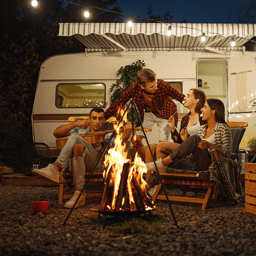
[[[172,34],[167,35],[169,25]],[[201,35],[205,33],[205,41]],[[238,49],[253,36],[256,24],[203,23],[60,23],[59,36],[74,35],[87,51]],[[231,40],[235,40],[235,48]]]

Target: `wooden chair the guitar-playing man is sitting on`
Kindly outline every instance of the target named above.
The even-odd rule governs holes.
[[[88,119],[88,116],[82,116],[82,117],[69,117],[68,120],[69,122],[74,122],[74,121],[78,121],[81,119]],[[104,124],[105,127],[109,127],[108,130],[112,130],[113,129],[113,122],[116,122],[116,118],[115,117],[110,117]],[[106,129],[104,128],[104,129]],[[107,130],[107,129],[106,129]],[[89,175],[91,174],[91,172],[86,172],[84,175],[84,182],[87,181]],[[104,178],[103,178],[103,170],[102,171],[95,171],[84,192],[87,193],[85,195],[86,198],[100,198],[101,197],[101,192],[96,192],[96,193],[88,193],[88,190],[99,190],[103,188],[103,183],[104,183]],[[71,193],[71,191],[74,190],[74,184],[73,184],[73,177],[72,177],[72,173],[71,171],[65,170],[65,168],[61,169],[60,172],[60,188],[59,188],[59,196],[58,196],[58,203],[62,204],[62,201],[64,199],[70,199],[73,196],[73,193]]]

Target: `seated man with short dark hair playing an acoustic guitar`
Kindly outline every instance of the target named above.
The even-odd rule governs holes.
[[[95,162],[99,159],[106,145],[108,144],[111,133],[105,135],[105,140],[99,143],[90,144],[87,140],[83,139],[80,134],[91,134],[96,132],[105,131],[102,129],[105,122],[104,110],[102,108],[93,108],[90,112],[88,120],[82,120],[67,125],[58,126],[53,132],[53,135],[58,137],[69,136],[64,147],[62,148],[60,155],[53,164],[49,164],[42,169],[34,169],[32,174],[37,177],[46,179],[51,182],[59,183],[60,170],[65,168],[69,162],[74,183],[74,194],[70,200],[68,200],[64,207],[72,208],[77,200],[80,192],[84,186],[84,173],[85,170],[93,170]],[[131,134],[131,124],[123,127],[122,143],[125,143],[129,139]],[[114,147],[115,136],[111,139],[108,148]],[[106,151],[107,152],[107,151]],[[103,156],[96,166],[95,170],[102,170],[105,157]],[[82,194],[75,205],[75,208],[85,204],[85,195]]]

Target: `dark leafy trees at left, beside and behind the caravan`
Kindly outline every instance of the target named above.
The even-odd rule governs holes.
[[[32,142],[31,114],[40,66],[52,55],[84,51],[84,46],[74,37],[57,36],[59,22],[85,21],[81,6],[63,6],[60,0],[40,0],[38,8],[33,9],[28,2],[1,3],[0,165],[14,168],[23,146]],[[120,10],[116,0],[87,2],[90,6]],[[92,21],[97,16],[101,22],[118,21],[121,17],[97,9],[93,13]]]

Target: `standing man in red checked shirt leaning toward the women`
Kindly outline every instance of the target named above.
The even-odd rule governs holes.
[[[159,130],[159,141],[170,140],[170,127],[168,119],[177,111],[172,98],[181,102],[185,95],[179,93],[169,83],[156,79],[156,74],[151,69],[143,69],[137,75],[138,81],[132,83],[116,103],[105,112],[105,118],[113,116],[118,107],[123,107],[131,98],[134,99],[144,128],[151,128],[155,123]],[[145,112],[144,112],[145,109]],[[178,123],[178,114],[174,115],[175,126]],[[134,147],[144,159],[145,146],[142,143],[143,131],[135,131],[132,138]]]

